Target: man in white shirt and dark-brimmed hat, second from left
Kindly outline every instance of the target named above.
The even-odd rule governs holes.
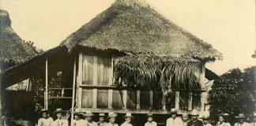
[[[62,108],[56,109],[53,114],[57,116],[57,119],[53,122],[53,126],[69,126],[69,121],[63,119],[64,113],[65,111]]]

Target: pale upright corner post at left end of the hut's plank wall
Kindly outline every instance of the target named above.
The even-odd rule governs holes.
[[[82,85],[82,83],[83,83],[83,54],[81,54],[81,53],[79,53],[79,57],[78,57],[78,85],[80,86],[80,85]],[[79,87],[78,88],[78,109],[81,109],[81,97],[82,97],[82,95],[81,95],[81,91],[82,91],[82,89],[81,89],[81,87]]]

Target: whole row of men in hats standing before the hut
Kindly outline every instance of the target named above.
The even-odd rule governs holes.
[[[43,109],[41,113],[42,118],[38,120],[38,126],[69,126],[68,120],[63,118],[63,114],[65,113],[65,111],[62,109],[56,109],[56,111],[53,113],[54,116],[57,117],[56,120],[53,120],[50,117],[47,109]],[[119,124],[115,123],[115,119],[116,117],[118,117],[118,114],[114,112],[108,113],[107,116],[105,115],[105,113],[99,113],[98,122],[92,120],[92,117],[95,117],[95,114],[93,114],[91,111],[87,111],[86,113],[75,112],[73,113],[73,115],[73,126],[119,126]],[[226,118],[228,117],[227,113],[220,114],[219,119],[216,123],[213,123],[213,121],[209,121],[209,117],[205,116],[201,119],[198,119],[199,113],[196,109],[193,109],[190,113],[191,119],[189,119],[189,115],[187,113],[183,113],[182,117],[177,117],[177,115],[177,110],[175,108],[171,109],[171,117],[168,118],[168,120],[166,121],[166,126],[231,126]],[[250,124],[247,124],[244,121],[245,117],[246,116],[240,113],[239,116],[236,117],[239,119],[239,122],[235,123],[234,126],[249,126]],[[123,118],[124,122],[121,124],[121,126],[133,126],[131,124],[131,120],[134,117],[131,113],[126,113]],[[147,114],[147,122],[145,123],[145,126],[156,125],[156,122],[153,121],[153,114]]]

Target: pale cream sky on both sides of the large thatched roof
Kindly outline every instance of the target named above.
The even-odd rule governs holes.
[[[0,0],[12,28],[49,50],[107,9],[115,0]],[[254,0],[146,0],[152,9],[210,43],[224,60],[206,64],[218,75],[256,65]]]

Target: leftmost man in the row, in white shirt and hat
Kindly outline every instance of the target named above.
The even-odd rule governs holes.
[[[53,119],[50,117],[48,110],[42,109],[40,113],[42,117],[38,120],[38,126],[51,126]]]

